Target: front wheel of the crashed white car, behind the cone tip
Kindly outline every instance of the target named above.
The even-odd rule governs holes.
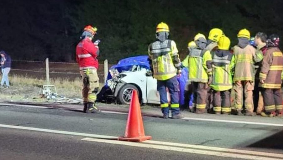
[[[133,90],[136,90],[138,93],[138,96],[140,96],[139,90],[136,86],[132,84],[125,84],[119,91],[119,94],[117,97],[118,101],[121,104],[130,104]]]

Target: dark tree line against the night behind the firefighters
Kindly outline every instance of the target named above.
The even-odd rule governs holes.
[[[242,28],[283,37],[282,6],[281,0],[2,0],[0,50],[13,59],[74,61],[81,30],[93,24],[101,40],[99,59],[116,63],[146,55],[156,25],[164,21],[183,58],[193,36],[214,27],[232,45]]]

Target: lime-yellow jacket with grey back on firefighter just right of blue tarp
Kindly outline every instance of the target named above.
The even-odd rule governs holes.
[[[189,81],[208,82],[208,74],[211,74],[211,54],[209,50],[194,48],[189,54]]]

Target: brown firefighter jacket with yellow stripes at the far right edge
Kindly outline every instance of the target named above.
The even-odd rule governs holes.
[[[279,48],[270,47],[262,60],[259,83],[262,88],[281,88],[281,73],[283,70],[283,55]]]

